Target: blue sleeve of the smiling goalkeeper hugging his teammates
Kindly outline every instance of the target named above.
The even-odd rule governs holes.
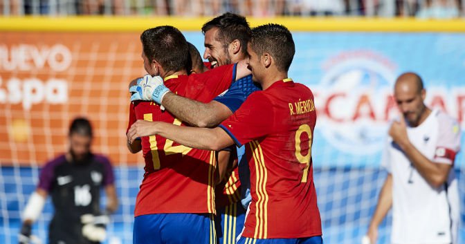
[[[221,102],[234,113],[244,103],[248,95],[259,90],[261,90],[259,84],[252,81],[252,75],[248,75],[231,84],[226,92],[221,93],[214,100]]]

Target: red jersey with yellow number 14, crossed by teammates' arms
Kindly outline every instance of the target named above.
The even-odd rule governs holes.
[[[165,78],[165,86],[183,97],[210,102],[235,79],[235,65],[202,74]],[[128,129],[136,120],[163,121],[183,126],[154,102],[131,105]],[[143,137],[145,175],[134,216],[166,213],[215,213],[215,151],[184,147],[160,135]]]

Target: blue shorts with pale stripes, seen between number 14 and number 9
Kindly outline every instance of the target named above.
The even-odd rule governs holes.
[[[215,229],[217,230],[218,244],[235,244],[236,238],[244,228],[246,210],[241,202],[233,203],[217,209],[215,216]]]

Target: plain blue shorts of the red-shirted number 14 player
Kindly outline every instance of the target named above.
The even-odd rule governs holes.
[[[147,214],[134,218],[134,244],[215,244],[212,214]]]

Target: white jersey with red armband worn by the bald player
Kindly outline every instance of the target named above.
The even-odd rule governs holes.
[[[434,110],[408,138],[423,156],[453,165],[460,148],[458,122]],[[459,192],[450,170],[446,184],[433,188],[389,138],[381,165],[392,174],[392,243],[457,243]]]

